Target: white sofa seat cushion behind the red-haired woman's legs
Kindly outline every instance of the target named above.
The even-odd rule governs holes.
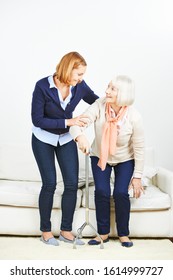
[[[41,182],[0,180],[0,204],[18,207],[38,208]],[[58,184],[54,195],[53,208],[61,208],[63,185]],[[78,189],[76,209],[81,206],[82,191]]]

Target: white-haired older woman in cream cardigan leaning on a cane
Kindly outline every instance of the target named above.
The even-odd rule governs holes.
[[[115,173],[113,198],[116,225],[122,246],[131,247],[129,239],[130,199],[143,192],[141,177],[144,166],[144,132],[141,115],[131,106],[134,102],[134,82],[127,76],[113,78],[106,96],[96,100],[86,111],[88,125],[94,122],[95,139],[91,146],[91,165],[95,182],[95,205],[98,233],[103,242],[109,241],[110,232],[110,177]],[[90,144],[84,128],[70,128],[79,148],[88,153]],[[98,237],[89,245],[98,245]]]

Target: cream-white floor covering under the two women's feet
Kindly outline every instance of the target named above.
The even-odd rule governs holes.
[[[124,248],[118,239],[100,246],[86,244],[73,248],[42,243],[39,237],[0,237],[1,260],[173,260],[173,243],[168,239],[132,239],[134,246]]]

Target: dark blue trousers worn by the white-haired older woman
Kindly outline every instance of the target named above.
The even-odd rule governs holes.
[[[95,182],[95,205],[98,233],[110,232],[110,177],[115,172],[113,199],[118,236],[129,235],[130,199],[128,187],[134,171],[134,160],[119,163],[115,166],[106,165],[102,171],[97,165],[98,158],[91,157],[91,166]]]

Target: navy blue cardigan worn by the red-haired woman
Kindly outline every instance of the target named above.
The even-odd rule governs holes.
[[[83,80],[72,88],[72,98],[65,110],[60,105],[57,88],[50,88],[48,77],[39,80],[32,96],[31,117],[32,123],[54,134],[62,134],[69,131],[65,127],[65,119],[71,119],[77,104],[83,99],[92,104],[98,96]]]

